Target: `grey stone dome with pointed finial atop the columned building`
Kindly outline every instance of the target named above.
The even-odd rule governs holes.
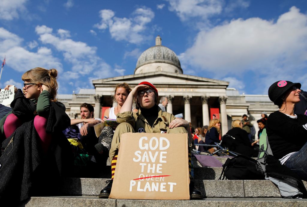
[[[163,69],[165,68],[166,65],[164,64],[164,66],[159,67],[157,66],[157,64],[151,64],[153,67],[148,69],[149,66],[147,66],[146,71],[143,71],[142,69],[138,70],[141,66],[144,66],[149,63],[161,63],[162,65],[163,63],[170,64],[172,65],[171,66],[172,69],[167,69],[165,71],[182,74],[180,61],[177,55],[171,49],[161,45],[160,36],[156,37],[156,45],[145,50],[138,58],[134,74],[153,72],[153,71],[164,71]],[[168,66],[168,68],[170,67]]]

